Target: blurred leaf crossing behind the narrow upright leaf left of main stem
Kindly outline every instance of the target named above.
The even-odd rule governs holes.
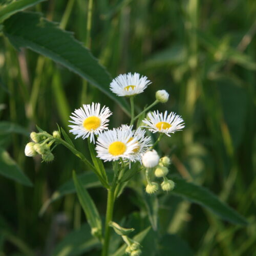
[[[83,173],[83,174],[79,174],[79,175],[77,175],[77,179],[80,180],[83,187],[85,187],[85,188],[100,187],[100,182],[99,182],[97,176],[95,175],[95,173],[93,173],[93,172],[86,172],[86,173]],[[67,181],[66,183],[62,184],[52,194],[50,199],[48,199],[44,203],[44,205],[42,205],[42,207],[39,211],[39,216],[44,215],[45,211],[47,210],[47,208],[49,207],[49,205],[51,203],[53,203],[54,201],[62,198],[65,195],[75,193],[75,191],[76,191],[76,188],[75,188],[73,179],[71,179],[71,180]]]

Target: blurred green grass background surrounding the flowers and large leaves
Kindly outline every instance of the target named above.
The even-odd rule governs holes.
[[[198,205],[168,197],[159,203],[161,227],[186,240],[198,256],[255,255],[256,2],[94,0],[91,28],[88,9],[86,0],[50,0],[31,10],[74,32],[113,78],[127,72],[146,75],[152,84],[136,97],[137,111],[165,89],[170,100],[154,110],[174,111],[186,124],[159,146],[159,152],[172,157],[172,174],[209,188],[250,222],[246,227],[228,224]],[[21,134],[0,130],[0,145],[34,184],[25,187],[0,176],[0,223],[6,227],[0,231],[0,255],[50,255],[85,218],[73,194],[52,203],[42,216],[40,208],[71,179],[72,169],[79,173],[84,167],[63,147],[49,164],[26,158],[29,132],[36,131],[35,124],[52,132],[56,123],[68,131],[70,113],[92,101],[114,112],[110,127],[128,118],[66,68],[30,50],[17,52],[4,37],[0,46],[0,118],[25,129]],[[88,155],[86,142],[74,143]],[[90,193],[103,214],[104,189]],[[115,218],[136,215],[135,201],[127,188]]]

